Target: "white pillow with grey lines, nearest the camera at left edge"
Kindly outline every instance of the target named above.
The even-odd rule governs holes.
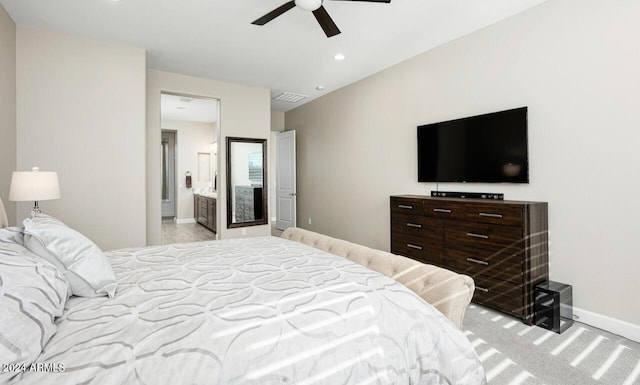
[[[68,289],[62,274],[17,238],[0,229],[0,361],[29,368],[56,332]],[[18,373],[0,371],[0,384]]]

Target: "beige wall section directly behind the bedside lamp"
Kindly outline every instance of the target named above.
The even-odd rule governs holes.
[[[103,249],[145,244],[145,66],[142,49],[18,26],[17,168],[57,171],[43,211]]]

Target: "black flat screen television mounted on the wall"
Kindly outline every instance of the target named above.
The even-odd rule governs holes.
[[[529,183],[527,107],[418,126],[418,181]]]

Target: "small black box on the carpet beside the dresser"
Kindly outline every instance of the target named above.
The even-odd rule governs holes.
[[[573,288],[546,281],[535,287],[535,324],[556,333],[573,325]]]

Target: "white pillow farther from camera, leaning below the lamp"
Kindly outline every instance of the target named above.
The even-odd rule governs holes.
[[[24,244],[55,265],[79,297],[113,297],[118,283],[109,261],[95,243],[56,218],[37,214],[24,224]]]

